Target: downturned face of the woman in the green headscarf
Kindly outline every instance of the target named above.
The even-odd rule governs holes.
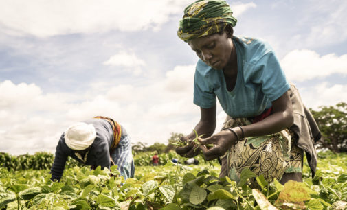
[[[225,32],[193,38],[188,44],[203,62],[214,69],[223,69],[231,59],[232,40]]]

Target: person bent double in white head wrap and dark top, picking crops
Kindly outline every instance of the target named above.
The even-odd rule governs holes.
[[[125,179],[134,177],[131,139],[124,127],[109,117],[94,117],[67,128],[56,146],[52,180],[60,180],[68,156],[92,169],[117,165]]]

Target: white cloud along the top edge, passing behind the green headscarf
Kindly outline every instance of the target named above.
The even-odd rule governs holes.
[[[158,30],[172,14],[183,14],[189,0],[12,0],[0,1],[0,30],[38,37],[110,30]],[[240,14],[254,3],[234,6]]]

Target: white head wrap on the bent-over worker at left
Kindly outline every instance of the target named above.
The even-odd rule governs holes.
[[[78,122],[71,125],[65,131],[64,139],[67,146],[72,150],[87,149],[96,138],[96,129],[92,124]]]

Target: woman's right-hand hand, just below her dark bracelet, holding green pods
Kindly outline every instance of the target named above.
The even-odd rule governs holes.
[[[203,150],[203,156],[205,156],[206,161],[210,161],[213,159],[222,156],[232,147],[232,144],[236,142],[238,139],[234,133],[230,130],[221,130],[221,132],[216,133],[212,137],[208,137],[206,139],[200,139],[201,145],[200,148]],[[213,144],[214,146],[210,148],[209,145]],[[206,147],[207,145],[207,147]]]

